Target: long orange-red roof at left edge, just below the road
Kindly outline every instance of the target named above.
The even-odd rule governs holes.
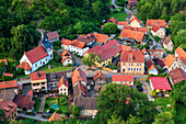
[[[16,88],[16,80],[0,82],[0,89]]]

